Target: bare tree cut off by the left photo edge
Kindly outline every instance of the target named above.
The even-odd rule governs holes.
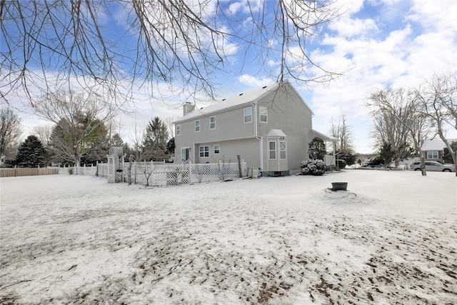
[[[21,121],[17,114],[9,108],[0,109],[0,157],[6,153],[6,148],[21,136]]]

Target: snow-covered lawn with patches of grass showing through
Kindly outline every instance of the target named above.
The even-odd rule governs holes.
[[[454,175],[1,179],[0,303],[457,304]]]

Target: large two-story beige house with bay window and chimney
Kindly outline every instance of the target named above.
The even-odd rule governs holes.
[[[202,109],[186,103],[184,116],[174,122],[176,162],[236,162],[240,155],[248,168],[258,167],[264,175],[298,173],[315,136],[338,141],[314,131],[312,118],[313,111],[288,81]]]

